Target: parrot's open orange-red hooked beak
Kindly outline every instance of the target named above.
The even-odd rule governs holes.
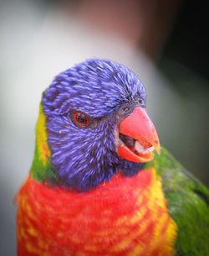
[[[135,107],[134,112],[120,122],[118,154],[122,159],[146,163],[154,158],[154,149],[158,154],[161,153],[155,126],[145,108]]]

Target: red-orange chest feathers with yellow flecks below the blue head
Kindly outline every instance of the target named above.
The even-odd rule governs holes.
[[[17,196],[18,256],[171,256],[176,223],[155,170],[78,193],[29,176]]]

